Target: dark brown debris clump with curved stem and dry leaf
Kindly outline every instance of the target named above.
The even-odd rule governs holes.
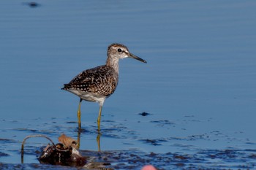
[[[110,163],[105,162],[97,162],[94,161],[95,158],[93,156],[83,156],[80,155],[79,152],[79,142],[75,139],[72,139],[65,134],[61,134],[59,136],[59,143],[54,144],[53,140],[51,140],[48,136],[37,134],[37,135],[29,135],[23,139],[21,144],[21,162],[23,163],[24,158],[24,147],[26,140],[29,138],[41,137],[48,139],[51,144],[48,144],[42,152],[40,152],[38,161],[42,164],[50,164],[50,165],[61,165],[61,166],[73,166],[80,169],[95,169],[95,170],[113,170],[110,167]],[[33,147],[32,147],[33,148]]]

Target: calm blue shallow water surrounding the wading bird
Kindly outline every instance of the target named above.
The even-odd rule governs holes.
[[[148,61],[120,61],[102,110],[113,167],[255,169],[255,1],[36,2],[0,2],[1,169],[67,169],[39,164],[45,139],[29,139],[20,164],[20,144],[77,138],[79,98],[60,88],[113,42]],[[84,155],[97,155],[98,109],[82,104]]]

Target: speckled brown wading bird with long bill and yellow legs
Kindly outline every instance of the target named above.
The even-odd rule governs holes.
[[[119,66],[118,61],[122,58],[134,58],[143,63],[147,63],[142,58],[129,52],[125,45],[113,43],[108,46],[108,58],[105,65],[86,69],[75,76],[68,84],[64,84],[61,90],[80,97],[78,104],[78,129],[81,129],[80,107],[81,102],[93,101],[99,104],[99,115],[97,118],[97,131],[100,133],[100,119],[102,107],[106,98],[114,93],[118,85]]]

